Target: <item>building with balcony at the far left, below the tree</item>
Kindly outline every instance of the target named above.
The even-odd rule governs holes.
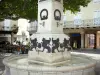
[[[0,42],[9,41],[12,43],[18,31],[18,21],[5,19],[0,21]]]

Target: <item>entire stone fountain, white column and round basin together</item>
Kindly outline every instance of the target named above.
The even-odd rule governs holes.
[[[70,53],[63,33],[63,0],[38,0],[38,31],[28,55],[3,60],[3,75],[95,75],[94,60]]]

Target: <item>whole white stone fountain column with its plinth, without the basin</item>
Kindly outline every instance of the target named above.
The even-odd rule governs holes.
[[[29,62],[40,63],[38,58],[43,64],[59,65],[70,59],[69,37],[63,33],[62,14],[63,0],[38,0],[38,31],[31,36],[33,51],[29,51]]]

